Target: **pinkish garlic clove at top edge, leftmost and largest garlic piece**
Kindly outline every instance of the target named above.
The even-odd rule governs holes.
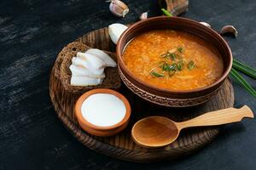
[[[125,14],[129,12],[127,5],[119,0],[111,0],[111,3],[109,4],[109,10],[112,14],[119,17],[125,17]]]

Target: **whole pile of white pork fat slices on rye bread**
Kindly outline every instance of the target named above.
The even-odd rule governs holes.
[[[104,69],[107,66],[116,67],[116,62],[100,49],[90,48],[85,53],[79,52],[72,59],[69,69],[72,73],[70,84],[73,86],[96,86],[101,84]]]

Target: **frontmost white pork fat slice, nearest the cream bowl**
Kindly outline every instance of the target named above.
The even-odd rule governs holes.
[[[73,86],[96,86],[102,83],[102,78],[72,76],[70,84]]]

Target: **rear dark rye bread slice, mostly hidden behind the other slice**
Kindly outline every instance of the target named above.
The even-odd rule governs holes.
[[[61,77],[61,63],[67,53],[77,54],[79,51],[84,52],[90,47],[81,42],[71,42],[67,44],[66,47],[62,48],[61,52],[58,54],[55,60],[55,77]]]

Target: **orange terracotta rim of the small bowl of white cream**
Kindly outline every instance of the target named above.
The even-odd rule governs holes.
[[[82,116],[81,106],[82,106],[84,100],[87,99],[92,94],[113,94],[114,96],[121,99],[124,102],[125,109],[126,109],[124,118],[119,123],[114,124],[114,125],[109,126],[109,127],[96,126],[96,125],[86,121],[84,119],[84,117]],[[108,130],[113,130],[115,128],[121,127],[126,122],[129,121],[129,118],[131,116],[131,105],[130,105],[129,101],[125,98],[125,96],[123,94],[119,94],[119,92],[117,92],[117,91],[114,91],[114,90],[111,90],[111,89],[108,89],[108,88],[96,88],[96,89],[90,90],[90,91],[82,94],[79,97],[79,99],[77,100],[77,102],[75,104],[74,111],[75,111],[75,116],[78,119],[78,122],[81,123],[83,126],[89,127],[91,129],[94,129],[94,130],[108,131]]]

